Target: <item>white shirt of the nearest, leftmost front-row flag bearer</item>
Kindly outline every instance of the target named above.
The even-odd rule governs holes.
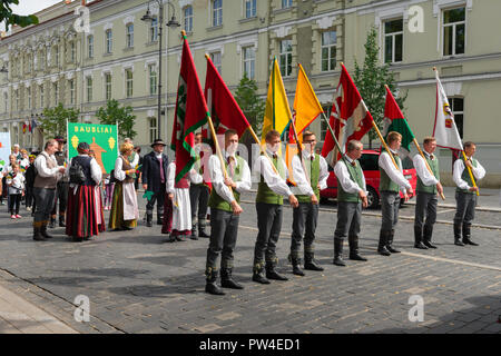
[[[235,169],[238,167],[238,160],[236,159],[235,155],[229,155],[228,152],[224,152],[224,156],[226,159],[228,159],[229,156],[234,158],[235,162]],[[235,200],[235,197],[233,196],[232,191],[229,190],[228,186],[225,185],[225,179],[223,175],[223,170],[220,169],[220,160],[217,157],[217,155],[213,155],[209,158],[208,161],[209,172],[210,172],[210,181],[213,184],[213,189],[216,189],[216,192],[219,197],[225,199],[227,202],[233,202]],[[235,190],[238,192],[244,192],[250,190],[252,187],[252,180],[250,180],[250,169],[248,168],[247,162],[244,160],[244,167],[240,167],[242,171],[242,180],[235,181],[236,188]],[[229,170],[227,170],[228,177],[230,177]]]

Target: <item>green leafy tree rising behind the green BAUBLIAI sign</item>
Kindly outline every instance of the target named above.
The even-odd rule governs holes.
[[[118,125],[118,136],[120,139],[126,137],[134,139],[137,132],[134,130],[136,116],[132,115],[132,107],[119,107],[115,99],[108,100],[106,108],[99,108],[96,112],[101,125]]]

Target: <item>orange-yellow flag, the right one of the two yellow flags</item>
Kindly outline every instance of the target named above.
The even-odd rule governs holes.
[[[324,109],[313,91],[303,66],[299,65],[299,73],[297,75],[296,97],[294,98],[295,126],[297,135],[302,137],[302,132]],[[301,138],[299,138],[301,139]]]

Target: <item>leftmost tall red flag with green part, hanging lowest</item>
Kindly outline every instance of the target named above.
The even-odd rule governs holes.
[[[208,115],[188,40],[183,31],[183,55],[170,142],[170,148],[176,152],[176,181],[179,181],[195,164],[197,154],[194,149],[194,132],[207,122]]]

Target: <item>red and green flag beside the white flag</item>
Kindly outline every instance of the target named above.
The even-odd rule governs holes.
[[[389,87],[386,88],[386,103],[384,105],[384,127],[383,137],[386,140],[386,136],[391,131],[402,135],[402,146],[400,147],[400,154],[407,157],[411,154],[411,142],[414,140],[414,134],[412,134],[409,127],[407,120],[405,120],[399,105],[395,101]]]

